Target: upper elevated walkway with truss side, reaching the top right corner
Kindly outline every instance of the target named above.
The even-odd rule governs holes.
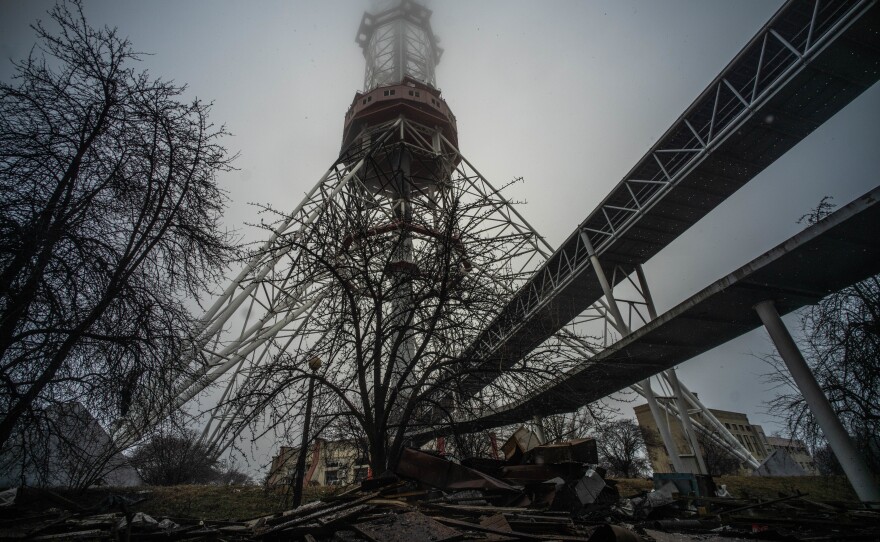
[[[849,7],[846,2],[838,4],[822,5],[829,13]],[[866,9],[836,39],[812,53],[808,62],[779,60],[794,53],[776,44],[781,48],[774,56],[779,64],[773,66],[782,70],[786,62],[793,62],[793,75],[780,76],[784,83],[761,99],[736,97],[731,88],[743,89],[743,94],[748,94],[746,89],[760,94],[764,79],[772,79],[770,73],[778,75],[767,63],[767,44],[772,39],[762,41],[766,33],[760,32],[535,273],[530,285],[511,301],[504,317],[488,327],[477,341],[484,345],[483,351],[471,354],[482,369],[477,374],[484,376],[466,379],[465,394],[478,391],[602,297],[582,246],[582,234],[592,238],[603,267],[617,266],[631,272],[870,88],[880,77],[876,41],[880,9],[873,4]],[[790,3],[766,28],[780,32],[789,27],[806,28],[810,10],[807,3]],[[726,103],[727,109],[719,103]],[[725,120],[735,115],[741,120]],[[713,139],[713,126],[717,131],[722,122],[736,128]],[[700,137],[685,124],[694,127]],[[635,200],[636,187],[654,190],[650,187],[667,182],[670,186],[662,198],[647,198],[651,203],[646,206]],[[623,278],[618,275],[612,280]]]

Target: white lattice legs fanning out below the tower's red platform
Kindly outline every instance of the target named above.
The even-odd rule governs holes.
[[[141,423],[130,427],[158,423],[198,397],[213,405],[206,411],[202,438],[219,455],[261,414],[236,401],[237,394],[261,386],[253,380],[255,368],[271,363],[292,346],[320,339],[311,327],[312,318],[333,287],[325,276],[303,276],[303,249],[296,247],[338,242],[322,238],[316,224],[331,214],[344,220],[352,198],[371,209],[377,226],[393,223],[395,202],[379,185],[389,180],[383,179],[387,164],[382,161],[401,145],[426,162],[440,164],[442,183],[423,190],[422,212],[442,206],[443,190],[477,202],[460,227],[471,238],[487,239],[497,250],[491,256],[487,252],[470,272],[497,275],[492,281],[500,299],[522,286],[550,253],[549,246],[500,191],[439,130],[404,117],[372,127],[342,153],[292,213],[281,215],[270,239],[254,250],[252,259],[204,314],[200,333],[192,341],[193,367],[190,376],[179,382],[177,401],[168,405],[167,412],[142,413]],[[130,430],[118,440],[136,437]]]

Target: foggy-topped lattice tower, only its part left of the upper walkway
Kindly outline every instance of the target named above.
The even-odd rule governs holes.
[[[339,157],[201,320],[168,408],[216,403],[202,438],[218,455],[254,420],[297,414],[310,379],[357,415],[387,401],[400,423],[551,252],[458,149],[430,18],[410,0],[364,14]],[[428,329],[439,312],[445,327]],[[167,414],[130,420],[121,440]]]

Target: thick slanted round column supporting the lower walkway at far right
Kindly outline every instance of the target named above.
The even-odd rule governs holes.
[[[755,310],[761,317],[764,327],[767,328],[767,332],[795,384],[797,384],[798,390],[803,394],[810,412],[816,417],[819,427],[822,428],[822,433],[828,439],[828,444],[840,461],[840,466],[843,467],[856,495],[863,502],[880,502],[880,488],[871,478],[868,465],[850,440],[840,423],[840,419],[831,408],[828,398],[822,393],[822,388],[816,382],[816,377],[813,376],[804,356],[779,317],[773,301],[762,301],[755,305]]]

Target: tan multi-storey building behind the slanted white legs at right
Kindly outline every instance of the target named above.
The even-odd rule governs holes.
[[[669,397],[657,397],[657,401],[664,404],[671,404],[672,399]],[[675,407],[671,406],[671,408]],[[657,429],[657,423],[654,421],[654,416],[651,415],[650,407],[647,404],[643,404],[636,406],[633,410],[635,410],[639,426],[642,427],[643,430],[646,430],[648,434],[656,436],[656,438],[649,438],[648,442],[646,442],[648,458],[651,461],[651,467],[654,469],[654,472],[674,472],[675,469],[672,466],[672,461],[669,459],[669,455],[666,453],[663,441],[660,439],[660,432]],[[711,412],[719,422],[723,423],[724,427],[727,428],[727,430],[730,431],[730,433],[743,446],[745,446],[745,448],[749,450],[759,462],[763,461],[772,451],[767,444],[767,437],[764,434],[764,429],[760,425],[755,425],[749,422],[749,417],[742,412],[715,410],[711,408],[709,409],[709,412]],[[678,421],[678,418],[671,414],[667,419],[669,423],[669,431],[672,434],[673,441],[676,443],[682,461],[688,465],[693,472],[696,472],[696,459],[691,452],[690,444],[685,439],[681,423]],[[691,419],[704,426],[707,425],[705,420],[703,420],[703,416],[699,413],[692,413]],[[747,469],[745,468],[742,468],[741,470],[747,472]]]

